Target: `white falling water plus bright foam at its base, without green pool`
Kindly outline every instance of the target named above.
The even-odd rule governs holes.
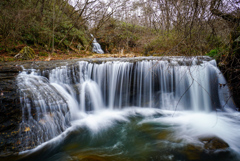
[[[144,119],[139,125],[164,123],[175,131],[175,138],[188,142],[197,142],[201,135],[215,135],[240,152],[238,113],[213,112],[235,108],[228,87],[219,86],[226,81],[214,60],[80,61],[51,70],[49,80],[37,73],[19,74],[18,86],[23,111],[28,111],[23,112],[23,130],[38,126],[47,131],[40,134],[38,144],[59,135],[70,124],[70,131],[84,126],[93,135],[101,134],[116,122],[130,122],[129,116],[140,114]],[[39,117],[32,117],[34,107],[39,107]],[[155,114],[164,117],[155,118]],[[33,134],[29,132],[30,138]]]

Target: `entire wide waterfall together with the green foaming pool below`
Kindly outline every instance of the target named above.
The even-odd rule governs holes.
[[[212,113],[235,106],[208,57],[79,61],[50,71],[25,70],[17,80],[28,142],[39,145],[65,131],[36,149],[50,148],[41,159],[189,160],[179,149],[203,146],[197,139],[202,135],[226,141],[233,160],[240,153],[236,114]]]

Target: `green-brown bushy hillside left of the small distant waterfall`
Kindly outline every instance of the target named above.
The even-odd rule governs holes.
[[[43,4],[44,3],[44,4]],[[52,45],[53,1],[9,0],[0,2],[0,48],[8,52],[21,43],[42,47]],[[65,6],[65,7],[64,7]],[[42,8],[43,7],[43,8]],[[88,43],[86,29],[75,21],[72,6],[64,0],[57,1],[54,17],[54,46],[64,49],[72,40],[83,46]],[[69,28],[72,30],[68,33]],[[64,38],[63,43],[60,43]],[[21,42],[21,43],[20,43]]]

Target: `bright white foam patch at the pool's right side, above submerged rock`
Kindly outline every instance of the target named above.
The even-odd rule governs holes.
[[[165,123],[171,125],[175,137],[187,142],[199,142],[201,136],[218,136],[226,141],[232,149],[240,152],[240,119],[239,113],[199,113],[168,111],[168,117],[150,118],[142,123]],[[172,115],[174,114],[174,115]]]

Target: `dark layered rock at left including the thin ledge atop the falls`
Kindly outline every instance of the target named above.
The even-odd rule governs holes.
[[[74,61],[69,63],[74,63]],[[22,67],[47,71],[62,65],[66,65],[66,62],[0,63],[0,160],[5,156],[14,156],[14,154],[20,151],[32,149],[38,145],[35,142],[31,142],[31,144],[26,146],[26,142],[30,139],[27,134],[30,131],[30,127],[20,131],[23,115],[16,78],[23,70]]]

